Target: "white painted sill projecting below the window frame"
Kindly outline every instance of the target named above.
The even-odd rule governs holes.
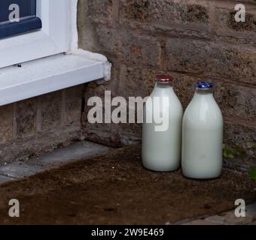
[[[0,68],[0,106],[107,78],[108,62],[59,54]]]

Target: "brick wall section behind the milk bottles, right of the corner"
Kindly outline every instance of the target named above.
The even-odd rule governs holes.
[[[234,21],[245,4],[246,22]],[[215,83],[224,114],[225,142],[256,141],[256,1],[80,0],[80,46],[113,63],[108,83],[90,83],[85,99],[111,90],[113,96],[146,96],[156,74],[172,74],[183,107],[197,80]],[[137,141],[137,124],[98,124],[83,116],[84,136],[122,145]]]

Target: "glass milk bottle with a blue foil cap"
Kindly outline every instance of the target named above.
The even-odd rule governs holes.
[[[187,178],[217,178],[222,169],[223,118],[212,83],[196,84],[184,113],[181,166]]]

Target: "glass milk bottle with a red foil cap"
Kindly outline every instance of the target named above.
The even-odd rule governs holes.
[[[181,164],[183,110],[171,81],[170,76],[156,77],[143,111],[142,163],[145,168],[159,172],[173,171]]]

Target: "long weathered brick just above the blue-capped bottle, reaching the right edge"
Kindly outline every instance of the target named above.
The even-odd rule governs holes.
[[[256,50],[240,49],[226,44],[185,39],[166,43],[167,68],[256,84]]]

